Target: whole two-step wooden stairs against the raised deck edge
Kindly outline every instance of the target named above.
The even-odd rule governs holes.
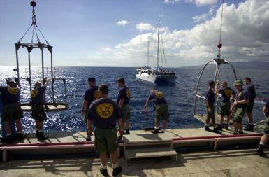
[[[168,134],[130,134],[124,135],[124,156],[126,161],[145,157],[175,156],[173,139]]]

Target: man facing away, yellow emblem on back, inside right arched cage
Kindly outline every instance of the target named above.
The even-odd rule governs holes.
[[[219,106],[219,130],[222,131],[222,127],[228,129],[228,124],[231,119],[231,97],[234,96],[235,91],[228,87],[226,81],[221,82],[221,88],[217,89],[219,83],[216,84],[215,92],[221,94],[221,104]],[[226,124],[224,124],[224,116],[226,116]]]

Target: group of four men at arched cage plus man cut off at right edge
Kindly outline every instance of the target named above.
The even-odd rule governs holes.
[[[246,85],[246,89],[243,85]],[[235,80],[233,84],[235,86],[236,92],[228,87],[226,81],[221,82],[221,87],[219,83],[215,84],[214,81],[210,80],[208,82],[208,90],[205,92],[206,99],[206,112],[207,118],[205,121],[205,130],[212,131],[220,134],[222,129],[228,130],[228,125],[233,116],[233,134],[244,134],[245,131],[253,131],[253,118],[252,111],[254,107],[254,99],[256,98],[256,88],[252,84],[251,78],[245,78],[244,80]],[[219,87],[219,88],[218,88]],[[215,95],[221,94],[221,102],[219,105],[219,126],[215,122]],[[264,155],[263,146],[268,141],[269,137],[269,110],[268,110],[269,100],[263,106],[263,113],[266,116],[265,120],[265,132],[261,137],[261,142],[257,152],[259,155]],[[242,118],[247,114],[248,124],[245,128],[242,125]],[[224,122],[224,117],[226,117],[226,122]],[[209,124],[213,130],[209,128]]]

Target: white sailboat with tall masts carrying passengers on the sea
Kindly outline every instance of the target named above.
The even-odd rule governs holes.
[[[159,66],[159,29],[160,29],[160,20],[158,25],[158,47],[157,47],[157,68],[152,68],[149,66],[149,48],[150,42],[147,44],[147,67],[137,68],[136,69],[136,78],[141,80],[146,80],[150,83],[175,83],[177,76],[175,71],[168,71],[163,67]],[[164,56],[164,50],[163,50]]]

